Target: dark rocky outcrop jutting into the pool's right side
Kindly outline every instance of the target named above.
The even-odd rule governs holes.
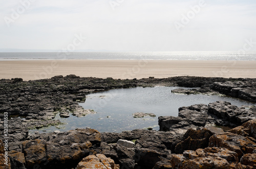
[[[256,119],[254,108],[237,107],[229,102],[217,101],[208,105],[181,107],[178,117],[160,116],[158,124],[160,131],[174,131],[213,125],[236,127],[250,119]]]

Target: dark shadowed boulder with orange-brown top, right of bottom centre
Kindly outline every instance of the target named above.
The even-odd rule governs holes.
[[[175,147],[175,153],[181,154],[185,150],[195,151],[197,149],[204,149],[208,147],[209,138],[212,135],[213,134],[207,129],[198,131],[188,129],[184,134],[182,141]]]

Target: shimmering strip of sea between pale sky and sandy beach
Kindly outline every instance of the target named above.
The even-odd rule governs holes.
[[[256,60],[256,52],[8,52],[0,60],[128,59],[128,60]]]

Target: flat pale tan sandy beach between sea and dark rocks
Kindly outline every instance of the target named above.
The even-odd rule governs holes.
[[[256,78],[256,61],[180,60],[5,60],[0,79],[36,80],[56,75],[114,79],[202,76]]]

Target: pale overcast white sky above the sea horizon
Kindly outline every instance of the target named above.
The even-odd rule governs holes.
[[[0,49],[256,51],[255,0],[1,0],[0,18]]]

